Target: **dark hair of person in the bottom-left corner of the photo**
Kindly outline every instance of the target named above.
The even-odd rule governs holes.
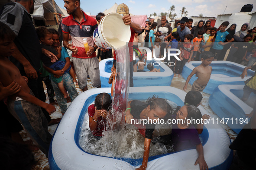
[[[31,170],[35,157],[28,145],[17,143],[7,137],[0,137],[0,159],[2,170]]]

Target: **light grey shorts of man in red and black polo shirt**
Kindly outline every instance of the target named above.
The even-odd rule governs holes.
[[[78,85],[80,89],[87,86],[88,75],[90,76],[93,87],[99,87],[101,85],[99,60],[97,57],[86,59],[73,57],[73,63],[76,76],[78,77]]]

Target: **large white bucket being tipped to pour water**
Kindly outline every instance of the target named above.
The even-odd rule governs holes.
[[[94,43],[98,47],[120,48],[130,41],[130,25],[125,25],[122,18],[118,13],[109,13],[101,19],[93,33]]]

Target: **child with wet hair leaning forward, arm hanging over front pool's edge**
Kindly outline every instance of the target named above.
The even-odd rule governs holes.
[[[172,107],[167,103],[165,99],[156,98],[153,96],[152,98],[149,98],[146,103],[138,100],[129,101],[127,104],[125,120],[128,124],[133,123],[134,119],[158,120],[166,118],[167,116],[171,115],[171,113]],[[138,168],[138,170],[145,170],[149,158],[149,146],[156,124],[146,124],[146,126],[139,124],[134,125],[145,137],[143,161],[142,165]]]

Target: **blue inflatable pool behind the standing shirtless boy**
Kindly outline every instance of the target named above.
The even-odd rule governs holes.
[[[201,61],[191,61],[186,63],[182,70],[182,77],[187,79],[192,70],[201,63]],[[243,85],[243,82],[254,74],[254,72],[249,69],[247,70],[248,77],[241,79],[239,76],[242,74],[245,66],[230,61],[213,61],[210,66],[212,66],[211,79],[204,88],[204,92],[208,94],[212,94],[214,88],[218,85]],[[195,75],[192,76],[189,83],[192,85],[196,79],[197,77]]]

